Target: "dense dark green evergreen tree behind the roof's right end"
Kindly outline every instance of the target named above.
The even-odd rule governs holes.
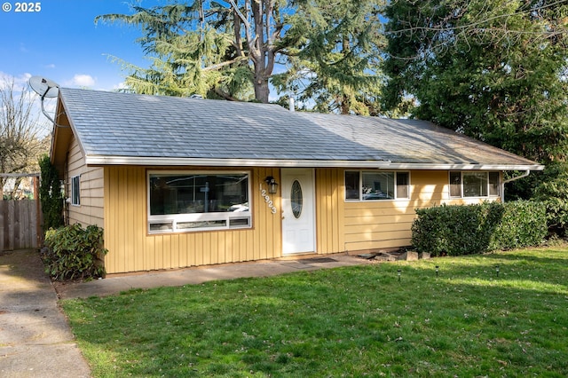
[[[548,164],[568,157],[568,2],[398,0],[385,105]]]

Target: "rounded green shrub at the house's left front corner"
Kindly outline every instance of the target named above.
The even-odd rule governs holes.
[[[45,234],[43,261],[53,280],[91,280],[104,277],[103,229],[71,224]]]

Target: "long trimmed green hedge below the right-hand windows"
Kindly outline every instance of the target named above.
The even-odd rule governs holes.
[[[412,244],[432,256],[461,256],[539,246],[547,235],[541,202],[484,202],[416,209]]]

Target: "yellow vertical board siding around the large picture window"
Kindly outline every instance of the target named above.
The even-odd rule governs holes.
[[[104,228],[109,251],[106,272],[142,272],[281,256],[280,212],[272,214],[260,195],[260,185],[265,189],[264,177],[280,179],[278,169],[240,170],[251,172],[252,228],[149,234],[146,168],[105,167]],[[279,198],[272,200],[280,209]]]

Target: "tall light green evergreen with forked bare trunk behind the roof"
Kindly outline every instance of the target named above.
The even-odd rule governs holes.
[[[268,102],[269,81],[319,111],[377,114],[383,0],[241,0],[106,14],[142,31],[149,68],[122,62],[130,91]],[[285,72],[273,75],[275,65]]]

